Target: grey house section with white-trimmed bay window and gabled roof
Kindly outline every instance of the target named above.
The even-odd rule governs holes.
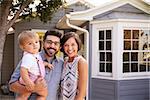
[[[150,100],[150,4],[115,0],[66,14],[56,27],[84,33],[88,100]]]

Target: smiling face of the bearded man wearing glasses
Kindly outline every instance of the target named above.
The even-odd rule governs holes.
[[[43,43],[43,48],[48,57],[53,57],[60,49],[60,38],[48,35]]]

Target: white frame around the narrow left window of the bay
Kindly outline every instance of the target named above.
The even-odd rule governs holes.
[[[92,58],[95,59],[95,62],[96,63],[93,63],[92,66],[95,66],[93,67],[92,69],[92,77],[95,77],[95,78],[98,78],[98,77],[103,77],[103,78],[109,78],[109,79],[112,79],[112,72],[113,72],[113,61],[111,61],[112,63],[112,72],[111,73],[108,73],[108,72],[99,72],[99,31],[100,30],[111,30],[111,52],[112,52],[112,43],[113,43],[113,24],[105,24],[107,25],[107,27],[99,27],[99,26],[93,26],[93,27],[96,27],[92,33],[94,33],[95,35],[92,37],[94,38],[94,40],[92,41],[92,48],[95,48],[96,52],[92,52]],[[104,26],[105,26],[104,25]],[[102,25],[103,26],[103,25]],[[109,50],[110,51],[110,50]],[[112,53],[112,59],[113,59],[113,53]],[[92,59],[92,62],[93,62],[93,59]]]

